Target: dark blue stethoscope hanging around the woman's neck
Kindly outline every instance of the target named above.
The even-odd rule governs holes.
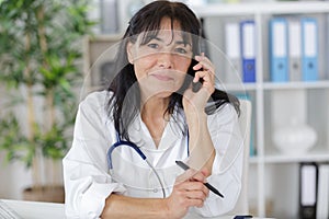
[[[112,152],[115,148],[120,147],[120,146],[128,146],[131,148],[133,148],[138,154],[139,157],[145,160],[145,162],[147,163],[147,165],[152,170],[152,172],[156,174],[158,181],[159,181],[159,184],[161,186],[161,189],[162,189],[162,195],[163,195],[163,198],[166,198],[166,192],[164,192],[164,186],[162,184],[162,181],[158,174],[158,172],[156,171],[155,166],[147,160],[147,157],[145,155],[145,153],[136,146],[136,143],[132,142],[132,141],[126,141],[126,140],[122,140],[118,132],[116,132],[116,142],[113,143],[109,150],[107,150],[107,153],[106,153],[106,157],[107,157],[107,165],[109,165],[109,170],[110,170],[110,173],[111,171],[113,171],[113,164],[112,164]],[[189,149],[189,130],[188,130],[188,137],[186,137],[186,148],[188,148],[188,157],[190,157],[190,149]]]

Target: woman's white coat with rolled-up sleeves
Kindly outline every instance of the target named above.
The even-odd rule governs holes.
[[[133,197],[162,197],[155,172],[127,146],[113,150],[113,169],[109,171],[106,153],[117,142],[114,123],[105,108],[110,95],[106,91],[94,92],[79,105],[72,147],[63,161],[68,218],[99,218],[111,193]],[[188,137],[183,135],[183,126],[179,125],[182,120],[183,115],[175,112],[175,119],[171,118],[166,126],[158,148],[140,116],[133,120],[128,130],[131,141],[140,148],[155,166],[167,197],[175,177],[183,173],[174,161],[184,161],[189,155]],[[243,142],[236,111],[230,104],[208,115],[207,123],[216,150],[207,182],[225,197],[220,198],[209,192],[202,208],[190,210],[214,217],[231,210],[238,199]]]

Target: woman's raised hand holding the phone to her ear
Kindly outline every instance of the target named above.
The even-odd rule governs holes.
[[[204,54],[195,56],[195,60],[198,64],[193,66],[193,70],[196,71],[193,83],[202,81],[201,89],[197,92],[193,92],[192,84],[186,89],[183,97],[183,107],[184,111],[204,112],[209,96],[215,91],[215,67]]]

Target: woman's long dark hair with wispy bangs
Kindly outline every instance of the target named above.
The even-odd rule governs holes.
[[[137,79],[134,66],[129,64],[127,58],[126,47],[128,42],[135,43],[137,36],[141,33],[144,34],[141,44],[147,44],[148,41],[150,41],[148,37],[149,34],[158,34],[163,18],[170,19],[172,28],[173,22],[178,21],[181,25],[181,31],[189,33],[192,36],[193,55],[200,54],[197,45],[201,36],[201,24],[193,11],[185,4],[181,2],[154,1],[141,8],[132,18],[123,36],[123,41],[120,44],[116,57],[117,66],[115,72],[117,72],[117,74],[107,89],[113,92],[107,104],[109,116],[113,116],[116,131],[126,140],[129,140],[128,127],[138,114],[140,107],[139,88],[138,83],[136,83]],[[194,77],[194,71],[192,69],[194,65],[195,60],[192,59],[192,64],[188,70],[188,74],[192,77]],[[167,108],[168,113],[172,114],[175,106],[183,107],[181,94],[191,83],[191,79],[189,78],[192,77],[186,77],[182,88],[178,92],[171,94]],[[215,90],[209,101],[211,100],[214,104],[211,104],[211,106],[205,108],[206,113],[213,113],[224,103],[232,103],[239,114],[239,101],[236,96],[220,90]]]

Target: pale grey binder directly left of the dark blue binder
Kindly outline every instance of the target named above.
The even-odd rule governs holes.
[[[225,24],[225,81],[237,83],[241,79],[240,28],[238,22]]]

